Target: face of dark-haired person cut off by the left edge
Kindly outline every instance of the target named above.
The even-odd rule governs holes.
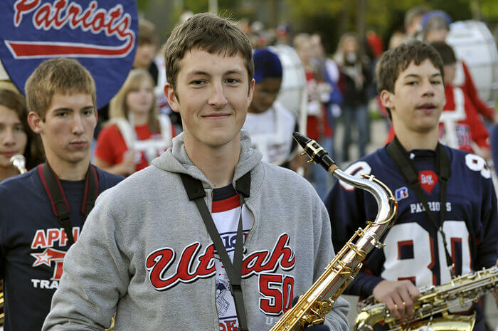
[[[10,159],[15,154],[24,154],[28,135],[17,113],[0,105],[0,167],[10,168]]]

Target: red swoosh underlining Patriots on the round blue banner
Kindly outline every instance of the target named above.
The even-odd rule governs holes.
[[[16,59],[58,56],[122,58],[132,50],[133,40],[133,36],[129,36],[124,46],[117,47],[50,41],[5,41],[5,44]]]

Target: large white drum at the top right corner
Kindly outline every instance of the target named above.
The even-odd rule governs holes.
[[[494,105],[498,98],[498,51],[486,24],[480,21],[451,23],[446,42],[455,50],[457,59],[467,64],[482,100]],[[460,85],[463,79],[462,67],[457,65],[455,85]]]

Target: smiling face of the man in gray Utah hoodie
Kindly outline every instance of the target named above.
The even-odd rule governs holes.
[[[223,56],[199,48],[180,61],[176,90],[166,84],[171,109],[180,112],[187,152],[197,148],[240,148],[240,129],[253,98],[254,80],[240,53]]]

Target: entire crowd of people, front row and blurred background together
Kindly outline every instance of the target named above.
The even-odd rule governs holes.
[[[100,110],[92,75],[68,58],[43,61],[26,96],[0,85],[4,330],[104,330],[112,317],[115,330],[270,330],[377,212],[365,191],[305,165],[298,130],[398,200],[386,246],[346,293],[402,320],[420,287],[498,265],[496,110],[445,42],[450,22],[416,7],[387,51],[349,32],[328,56],[319,33],[282,25],[270,41],[206,13],[159,49],[140,19],[133,68]],[[277,100],[285,63],[272,45],[299,58],[304,127]],[[367,154],[372,104],[390,132]],[[339,298],[306,330],[346,331],[348,310]],[[473,312],[484,331],[482,305]]]

